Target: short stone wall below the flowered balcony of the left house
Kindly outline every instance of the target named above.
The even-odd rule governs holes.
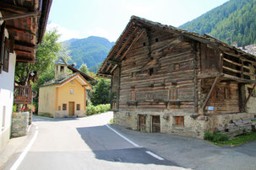
[[[27,135],[29,128],[29,112],[13,113],[12,137]]]

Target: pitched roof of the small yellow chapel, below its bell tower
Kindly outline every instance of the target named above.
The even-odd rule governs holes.
[[[55,80],[55,78],[53,78],[52,80],[42,84],[40,87],[52,86],[52,85],[61,85],[64,82],[69,82],[69,81],[73,80],[77,76],[79,76],[79,77],[84,79],[84,77],[82,77],[78,72],[75,72],[73,74],[69,74],[67,77],[64,77],[63,79],[60,79],[60,80]],[[89,82],[87,82],[85,79],[84,79],[84,82],[86,82],[90,86],[90,88],[91,88],[91,85],[90,85]]]

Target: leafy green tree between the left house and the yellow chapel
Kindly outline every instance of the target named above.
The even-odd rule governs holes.
[[[19,85],[28,85],[30,72],[36,72],[38,75],[47,74],[53,70],[54,61],[60,51],[63,50],[62,44],[57,40],[60,35],[56,29],[46,31],[38,50],[35,52],[35,64],[18,62],[15,69],[15,82]]]

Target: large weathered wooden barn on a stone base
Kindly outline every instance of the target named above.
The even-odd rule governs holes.
[[[256,113],[256,58],[210,35],[133,16],[97,72],[112,80],[114,122],[203,137]]]

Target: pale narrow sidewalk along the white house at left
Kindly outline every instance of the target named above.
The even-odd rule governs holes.
[[[8,144],[0,151],[0,169],[14,156],[24,151],[25,146],[30,142],[30,139],[35,134],[35,125],[30,125],[28,135],[15,137],[8,141]]]

